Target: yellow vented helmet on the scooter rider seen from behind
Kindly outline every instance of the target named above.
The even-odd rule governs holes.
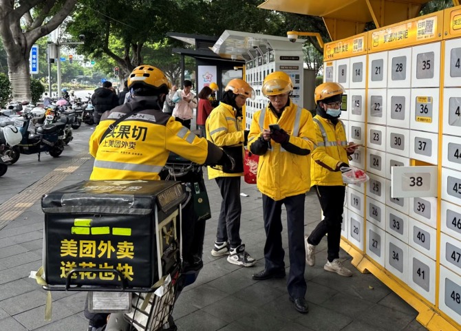
[[[135,85],[159,89],[160,93],[164,92],[165,94],[171,89],[171,83],[167,76],[162,70],[152,65],[140,65],[133,69],[128,77],[128,88],[131,89]]]

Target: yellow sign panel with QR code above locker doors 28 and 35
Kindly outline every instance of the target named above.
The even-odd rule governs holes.
[[[437,12],[369,32],[369,52],[394,50],[442,39],[443,14]]]

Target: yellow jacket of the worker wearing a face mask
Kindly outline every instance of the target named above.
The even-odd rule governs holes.
[[[319,115],[314,117],[317,148],[312,153],[311,182],[312,185],[336,186],[344,185],[341,171],[336,171],[336,164],[347,159],[347,139],[345,127],[341,120],[334,125]]]

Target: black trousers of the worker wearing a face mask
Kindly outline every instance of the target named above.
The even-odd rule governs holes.
[[[319,197],[323,211],[323,220],[308,237],[308,243],[318,245],[328,233],[328,261],[339,258],[339,242],[341,240],[341,223],[343,222],[343,205],[345,186],[319,186],[314,189]]]

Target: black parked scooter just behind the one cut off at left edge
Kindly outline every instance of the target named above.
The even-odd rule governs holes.
[[[14,120],[14,126],[21,132],[22,140],[17,145],[21,154],[50,153],[53,158],[63,153],[65,123],[41,124],[45,120],[45,109],[35,108]],[[19,158],[19,157],[18,157]]]

